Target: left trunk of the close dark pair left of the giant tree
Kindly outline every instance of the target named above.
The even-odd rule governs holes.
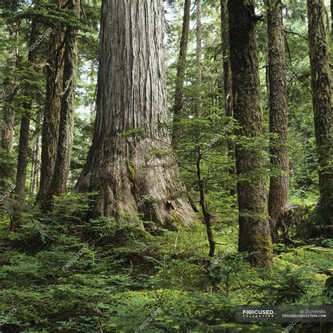
[[[53,4],[62,7],[65,0],[52,0]],[[48,67],[46,74],[46,103],[41,141],[41,180],[37,202],[44,207],[50,190],[58,151],[61,96],[63,93],[64,65],[64,32],[53,31],[48,51]]]

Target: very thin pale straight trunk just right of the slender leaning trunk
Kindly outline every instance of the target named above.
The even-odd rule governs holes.
[[[202,6],[201,1],[202,0],[196,0],[197,1],[197,50],[195,55],[195,67],[197,70],[197,76],[195,79],[195,86],[197,91],[197,97],[195,98],[195,114],[197,117],[201,115],[201,85],[202,85]]]

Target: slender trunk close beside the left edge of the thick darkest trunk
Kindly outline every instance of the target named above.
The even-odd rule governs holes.
[[[221,42],[223,55],[223,86],[224,86],[224,111],[227,117],[233,118],[233,82],[230,67],[230,47],[229,47],[229,15],[228,0],[221,0]],[[232,130],[231,133],[233,134]],[[228,141],[228,156],[231,161],[235,161],[235,143]],[[236,166],[230,166],[229,174],[232,178],[236,175]],[[235,185],[230,189],[230,195],[235,195],[237,190]]]

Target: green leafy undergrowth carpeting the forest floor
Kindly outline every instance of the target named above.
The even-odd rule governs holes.
[[[236,226],[216,226],[209,261],[201,224],[170,232],[151,223],[148,233],[126,217],[84,221],[89,202],[79,199],[61,198],[48,216],[30,211],[16,233],[3,219],[3,332],[282,332],[287,325],[235,322],[234,306],[332,303],[327,241],[278,244],[270,271],[255,269],[237,254]]]

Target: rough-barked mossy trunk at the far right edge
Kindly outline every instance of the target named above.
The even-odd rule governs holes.
[[[308,0],[308,42],[310,48],[315,141],[318,152],[320,223],[332,237],[333,209],[333,142],[332,92],[329,68],[329,45],[326,34],[326,13],[322,0]]]

